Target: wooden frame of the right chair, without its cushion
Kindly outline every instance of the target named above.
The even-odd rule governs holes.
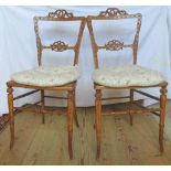
[[[118,40],[111,40],[107,42],[105,45],[98,45],[95,40],[94,30],[93,30],[93,21],[94,20],[122,20],[122,19],[137,19],[137,30],[136,35],[133,39],[132,44],[124,44],[124,42],[120,42]],[[133,54],[133,64],[137,64],[137,51],[138,51],[138,41],[139,41],[139,32],[141,26],[141,14],[128,14],[125,10],[119,10],[117,8],[109,8],[106,11],[101,11],[98,15],[89,15],[87,17],[87,25],[89,30],[90,41],[92,41],[92,47],[93,47],[93,56],[94,56],[94,65],[95,68],[98,68],[98,51],[99,50],[106,50],[106,51],[119,51],[122,49],[130,47],[132,49]],[[163,128],[164,128],[164,116],[165,116],[165,103],[167,103],[167,82],[163,82],[159,85],[153,86],[131,86],[131,87],[106,87],[103,85],[98,85],[94,83],[95,88],[95,106],[96,106],[96,138],[97,138],[97,153],[96,158],[98,159],[100,156],[100,145],[101,145],[101,104],[103,100],[110,100],[110,99],[120,99],[120,98],[128,98],[129,99],[129,107],[124,111],[113,111],[109,115],[126,115],[128,114],[130,116],[130,125],[132,125],[132,115],[135,114],[142,114],[142,113],[152,113],[157,116],[159,116],[159,145],[160,145],[160,151],[163,152]],[[137,88],[151,88],[151,87],[160,87],[160,98],[150,95],[148,93],[145,93],[142,90],[139,90]],[[130,95],[125,97],[110,97],[110,98],[103,98],[101,92],[103,89],[129,89]],[[160,108],[146,108],[138,103],[133,100],[133,94],[138,93],[141,95],[145,95],[147,97],[150,97],[154,100],[160,101]],[[139,109],[136,109],[135,105],[139,106]],[[135,107],[133,107],[135,106]]]

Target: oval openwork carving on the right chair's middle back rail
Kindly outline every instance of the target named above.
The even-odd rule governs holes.
[[[118,40],[113,40],[105,44],[105,49],[107,51],[119,51],[119,50],[122,50],[122,47],[124,47],[124,42],[120,42]]]

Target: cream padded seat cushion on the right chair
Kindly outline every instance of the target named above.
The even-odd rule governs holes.
[[[107,87],[153,86],[164,82],[161,73],[138,65],[98,68],[94,71],[93,79]]]

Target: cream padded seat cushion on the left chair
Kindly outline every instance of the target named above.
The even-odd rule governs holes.
[[[12,74],[12,81],[33,86],[63,86],[79,78],[77,66],[40,66]]]

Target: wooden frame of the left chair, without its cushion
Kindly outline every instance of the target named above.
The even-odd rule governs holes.
[[[76,44],[73,46],[70,46],[65,44],[62,41],[56,41],[51,45],[43,45],[41,42],[41,38],[39,34],[39,22],[40,21],[81,21],[79,31],[77,34],[77,41]],[[84,17],[74,17],[73,13],[67,12],[66,10],[60,9],[55,12],[50,12],[46,17],[34,17],[34,31],[36,35],[36,47],[38,47],[38,63],[39,66],[42,65],[42,51],[44,49],[49,49],[56,52],[63,52],[66,50],[73,50],[75,52],[74,56],[74,64],[76,65],[78,63],[78,55],[79,55],[79,47],[81,42],[83,38],[84,28],[86,24],[86,19]],[[31,85],[23,85],[15,83],[14,81],[10,81],[7,83],[8,86],[8,103],[9,103],[9,122],[10,122],[10,132],[11,132],[11,141],[10,141],[10,149],[13,147],[14,143],[14,110],[22,110],[24,107],[14,107],[13,100],[20,99],[22,97],[35,94],[38,92],[41,93],[41,100],[31,104],[31,105],[41,105],[41,114],[42,114],[42,122],[44,124],[44,113],[45,113],[45,98],[55,98],[55,99],[65,99],[67,100],[67,132],[68,132],[68,153],[70,159],[73,158],[73,149],[72,149],[72,139],[73,139],[73,119],[75,118],[76,126],[78,127],[78,120],[76,117],[76,106],[75,106],[75,87],[76,82],[64,85],[64,86],[54,86],[54,87],[41,87],[41,86],[31,86]],[[34,89],[32,92],[29,92],[26,94],[20,95],[18,97],[13,97],[13,87],[21,87],[21,88],[31,88]],[[46,96],[44,94],[44,90],[66,90],[67,97],[55,97],[55,96]],[[30,107],[29,105],[28,107]]]

